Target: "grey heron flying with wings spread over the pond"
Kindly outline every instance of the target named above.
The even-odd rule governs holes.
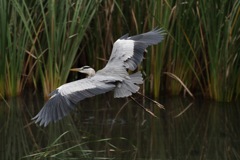
[[[106,66],[95,72],[89,66],[74,68],[72,71],[85,73],[88,77],[66,83],[49,94],[50,98],[40,112],[32,118],[35,123],[47,126],[69,114],[76,104],[89,97],[114,91],[114,98],[123,98],[136,93],[143,83],[142,74],[134,71],[143,60],[145,49],[164,39],[162,29],[129,37],[128,34],[119,38],[113,44],[111,56]]]

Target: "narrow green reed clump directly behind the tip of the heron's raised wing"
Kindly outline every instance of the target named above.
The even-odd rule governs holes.
[[[146,73],[150,77],[149,85],[146,85],[146,91],[153,93],[155,98],[159,97],[162,82],[162,71],[164,67],[164,61],[167,56],[167,45],[170,43],[170,36],[167,28],[169,27],[169,20],[171,18],[172,7],[169,1],[150,1],[148,7],[148,19],[147,24],[149,28],[163,27],[165,32],[165,40],[161,42],[161,45],[153,46],[150,49],[150,53],[146,54]]]

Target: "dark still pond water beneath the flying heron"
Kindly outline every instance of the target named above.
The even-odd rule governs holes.
[[[240,105],[181,97],[158,101],[112,94],[82,101],[46,128],[31,121],[41,96],[0,101],[0,159],[240,159]]]

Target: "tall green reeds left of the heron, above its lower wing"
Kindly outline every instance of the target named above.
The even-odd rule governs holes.
[[[26,78],[45,95],[64,83],[99,3],[1,1],[0,94],[21,93]]]

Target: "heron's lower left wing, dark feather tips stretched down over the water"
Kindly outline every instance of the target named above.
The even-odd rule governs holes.
[[[32,119],[35,123],[40,122],[40,126],[44,125],[44,127],[52,121],[56,122],[73,110],[79,101],[113,90],[115,88],[113,82],[114,79],[111,77],[95,75],[66,83],[50,94],[50,99]]]

